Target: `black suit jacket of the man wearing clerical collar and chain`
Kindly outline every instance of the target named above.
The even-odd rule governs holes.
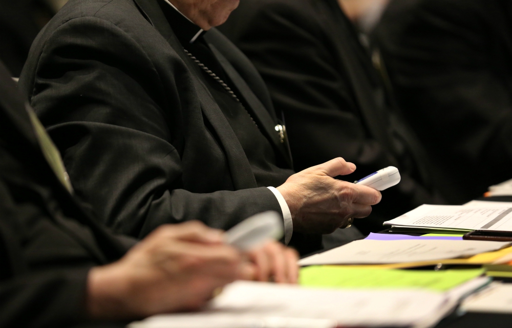
[[[220,32],[205,39],[280,165],[290,167],[263,80]],[[35,40],[20,89],[77,194],[117,231],[142,237],[193,219],[228,229],[255,213],[281,212],[272,192],[258,188],[201,74],[156,0],[71,0]]]

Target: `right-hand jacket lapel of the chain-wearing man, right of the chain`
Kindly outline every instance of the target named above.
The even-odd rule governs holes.
[[[205,38],[208,41],[207,35],[208,34],[205,35]],[[266,134],[267,138],[271,141],[274,148],[279,151],[283,159],[285,159],[288,165],[291,167],[292,162],[288,149],[286,148],[287,144],[285,144],[285,142],[281,142],[278,133],[275,131],[275,126],[277,124],[276,119],[272,118],[265,106],[263,106],[261,103],[260,99],[258,99],[258,97],[251,91],[246,81],[229,63],[226,57],[224,57],[224,55],[222,55],[222,53],[215,47],[215,45],[209,42],[208,45],[211,51],[217,57],[217,60],[221,64],[226,74],[229,76],[231,81],[233,81],[233,84],[237,86],[237,89],[240,91],[242,97],[245,98],[251,107],[252,113],[257,116],[258,120],[261,122],[261,125],[263,125],[263,132]]]

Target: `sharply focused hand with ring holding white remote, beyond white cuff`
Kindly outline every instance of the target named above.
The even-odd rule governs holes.
[[[353,163],[338,157],[296,173],[276,188],[290,208],[293,231],[328,234],[345,226],[349,218],[370,215],[380,192],[334,179],[354,171]]]

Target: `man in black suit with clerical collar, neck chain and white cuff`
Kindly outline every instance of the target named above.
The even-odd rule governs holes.
[[[293,233],[307,253],[381,195],[334,179],[355,170],[340,158],[293,174],[263,80],[211,28],[237,5],[71,0],[35,40],[20,89],[108,226],[138,237],[191,219],[227,229],[275,210],[285,242]]]

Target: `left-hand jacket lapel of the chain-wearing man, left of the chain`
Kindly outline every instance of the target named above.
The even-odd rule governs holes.
[[[249,160],[240,145],[240,141],[234,134],[226,117],[217,105],[214,97],[208,91],[201,79],[196,74],[201,74],[199,68],[191,63],[190,58],[183,51],[178,38],[170,28],[161,8],[155,0],[134,0],[139,9],[146,16],[146,19],[156,28],[156,30],[165,38],[167,43],[181,57],[190,71],[196,87],[197,96],[201,103],[201,109],[204,116],[208,119],[215,133],[219,137],[231,172],[231,179],[235,190],[258,187],[254,174],[249,164]],[[193,132],[192,132],[193,133]]]

